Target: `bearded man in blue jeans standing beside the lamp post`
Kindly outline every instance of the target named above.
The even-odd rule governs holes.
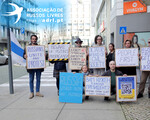
[[[29,45],[38,45],[37,40],[38,37],[36,35],[31,35],[31,43]],[[24,59],[27,59],[26,51],[24,51]],[[27,69],[27,72],[29,73],[29,86],[30,86],[30,97],[29,99],[32,99],[34,97],[34,74],[36,73],[36,96],[44,97],[40,93],[40,82],[41,82],[41,73],[44,71],[44,69]]]

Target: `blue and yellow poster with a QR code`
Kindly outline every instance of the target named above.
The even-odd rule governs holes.
[[[116,101],[137,101],[136,76],[116,77]]]

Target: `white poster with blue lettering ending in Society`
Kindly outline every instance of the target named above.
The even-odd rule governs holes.
[[[89,68],[105,68],[105,47],[89,47]]]

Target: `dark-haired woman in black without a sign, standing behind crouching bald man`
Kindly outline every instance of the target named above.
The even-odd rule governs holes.
[[[107,55],[107,59],[106,59],[106,70],[109,70],[109,62],[110,61],[115,61],[115,45],[113,43],[109,44],[109,54]]]

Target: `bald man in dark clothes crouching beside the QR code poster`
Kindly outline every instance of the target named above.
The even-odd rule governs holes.
[[[127,76],[119,70],[116,70],[115,61],[109,62],[110,70],[106,71],[102,76],[111,76],[111,94],[116,94],[116,76]],[[108,101],[109,97],[105,97],[104,100]]]

